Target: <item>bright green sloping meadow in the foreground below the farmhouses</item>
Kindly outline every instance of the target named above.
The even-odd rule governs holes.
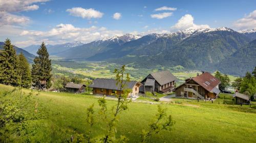
[[[0,84],[0,92],[11,89]],[[84,133],[88,131],[86,108],[94,103],[96,113],[99,109],[98,99],[91,95],[40,92],[36,99],[39,106],[44,106],[49,112],[49,119],[39,121],[33,128],[35,134],[31,142],[65,142],[75,132]],[[107,103],[108,109],[111,109],[116,101],[108,100]],[[172,131],[154,135],[148,142],[255,142],[256,109],[196,100],[184,100],[183,103],[162,104],[176,124]],[[129,142],[138,142],[141,130],[153,121],[156,112],[155,104],[130,103],[129,110],[120,115],[117,134],[125,135],[130,139]],[[93,136],[104,133],[101,119],[97,117],[95,120],[97,124],[93,128]]]

